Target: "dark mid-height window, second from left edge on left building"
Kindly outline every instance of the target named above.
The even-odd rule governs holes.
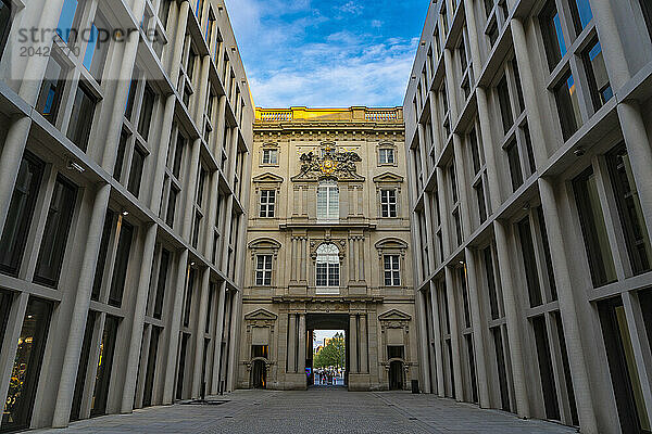
[[[59,283],[76,197],[77,188],[58,176],[36,263],[34,281],[37,283],[50,288]]]

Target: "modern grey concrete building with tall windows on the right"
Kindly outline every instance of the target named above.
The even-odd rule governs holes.
[[[404,106],[425,392],[651,431],[651,4],[431,2]]]

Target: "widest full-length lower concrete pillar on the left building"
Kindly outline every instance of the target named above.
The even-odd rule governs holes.
[[[98,266],[100,240],[104,228],[104,218],[106,216],[110,193],[111,186],[102,186],[96,194],[92,206],[87,244],[84,251],[84,259],[80,264],[82,271],[79,273],[79,282],[77,283],[75,293],[73,319],[67,334],[67,342],[65,343],[63,368],[59,380],[59,390],[57,392],[54,414],[52,417],[53,427],[67,426],[71,417],[77,369],[79,366],[79,355],[82,354],[82,343],[84,342],[84,331],[86,330],[86,320],[88,318],[88,308],[90,306],[90,292],[92,290],[92,282]],[[140,342],[140,339],[138,341]]]

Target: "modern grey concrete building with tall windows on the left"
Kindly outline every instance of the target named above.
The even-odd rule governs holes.
[[[233,390],[254,112],[224,3],[0,0],[0,431]]]

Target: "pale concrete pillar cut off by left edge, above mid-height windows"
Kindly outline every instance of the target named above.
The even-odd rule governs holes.
[[[25,152],[30,127],[32,119],[29,117],[15,120],[7,132],[4,146],[0,154],[0,234],[9,213],[11,196],[18,177],[21,158]]]

